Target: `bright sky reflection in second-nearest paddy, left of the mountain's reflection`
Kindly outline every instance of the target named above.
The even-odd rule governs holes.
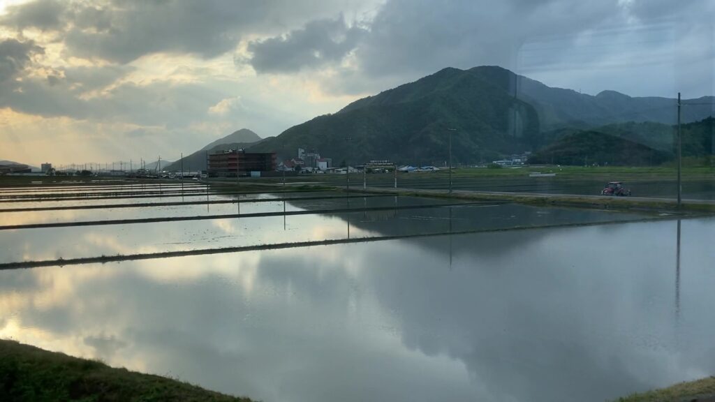
[[[353,229],[350,235],[364,237],[368,232]],[[0,230],[0,242],[7,247],[0,255],[0,263],[344,237],[347,237],[347,223],[344,220],[321,215],[288,217],[285,230],[282,216]]]

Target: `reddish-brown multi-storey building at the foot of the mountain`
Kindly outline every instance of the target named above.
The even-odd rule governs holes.
[[[276,169],[275,152],[246,152],[245,149],[226,149],[209,154],[208,175],[236,177],[250,172],[270,172]]]

